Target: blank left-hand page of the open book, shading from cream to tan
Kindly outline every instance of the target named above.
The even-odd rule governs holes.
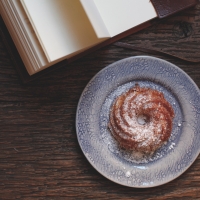
[[[21,0],[48,60],[99,43],[79,0]]]

